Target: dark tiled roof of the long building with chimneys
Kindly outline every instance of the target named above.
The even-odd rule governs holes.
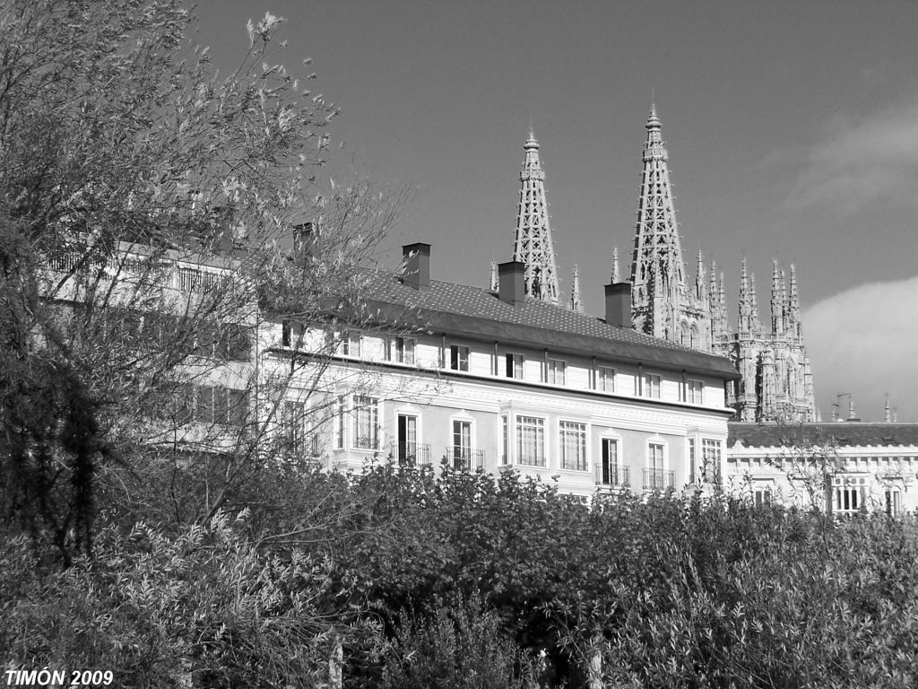
[[[369,283],[370,310],[378,310],[382,322],[398,321],[432,333],[556,353],[739,377],[722,356],[704,354],[537,299],[509,304],[490,290],[439,280],[431,280],[430,287],[415,289],[384,272],[376,272]]]

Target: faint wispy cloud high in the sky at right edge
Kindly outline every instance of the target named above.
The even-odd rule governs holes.
[[[851,214],[877,202],[918,207],[918,101],[838,120],[814,145],[784,206]]]

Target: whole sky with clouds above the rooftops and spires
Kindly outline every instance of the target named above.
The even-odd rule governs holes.
[[[817,405],[918,421],[918,3],[914,0],[203,0],[196,40],[229,73],[246,20],[286,22],[276,60],[341,107],[329,175],[412,198],[386,240],[487,287],[511,258],[523,143],[541,144],[562,290],[602,312],[633,247],[644,123],[663,123],[682,247],[743,256],[768,322],[772,261],[797,269]],[[844,411],[847,400],[841,400]]]

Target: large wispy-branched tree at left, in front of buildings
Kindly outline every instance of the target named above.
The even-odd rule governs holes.
[[[225,79],[185,40],[192,21],[165,0],[0,13],[4,516],[64,562],[91,549],[97,490],[177,522],[238,497],[277,454],[297,375],[297,359],[270,380],[252,365],[260,286],[306,295],[301,320],[330,295],[361,303],[352,268],[400,200],[319,182],[337,108],[271,62],[279,18],[250,22]]]

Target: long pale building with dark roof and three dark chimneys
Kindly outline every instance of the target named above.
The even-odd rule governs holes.
[[[584,497],[718,480],[729,361],[635,333],[619,286],[598,319],[525,297],[521,263],[492,291],[431,280],[427,244],[405,255],[402,275],[370,280],[360,332],[278,314],[261,335],[279,368],[331,341],[285,401],[328,411],[310,436],[327,467],[513,468]]]

